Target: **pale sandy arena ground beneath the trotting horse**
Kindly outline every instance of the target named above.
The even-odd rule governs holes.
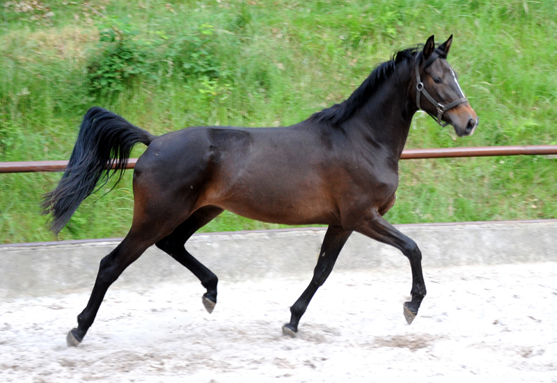
[[[0,302],[0,382],[557,382],[557,263],[424,270],[409,326],[410,268],[333,272],[285,337],[294,279],[116,283],[77,348],[65,335],[89,291]]]

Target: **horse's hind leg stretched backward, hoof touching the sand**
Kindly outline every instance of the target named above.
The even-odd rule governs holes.
[[[150,245],[152,245],[152,243],[147,244],[144,241],[134,241],[134,239],[130,237],[130,234],[128,234],[116,249],[112,250],[110,254],[100,261],[99,272],[97,273],[95,286],[91,292],[91,298],[89,298],[87,307],[77,316],[77,328],[72,329],[68,333],[68,336],[66,336],[68,346],[75,346],[81,343],[87,330],[93,325],[95,316],[97,316],[97,312],[104,299],[104,294],[107,293],[110,285],[113,284],[113,282],[120,277],[125,268],[136,261]]]

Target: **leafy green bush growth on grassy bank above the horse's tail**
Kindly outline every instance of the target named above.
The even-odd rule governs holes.
[[[111,24],[101,24],[101,28],[101,49],[87,65],[93,94],[120,92],[141,76],[160,81],[165,72],[182,81],[199,81],[205,84],[202,93],[212,94],[214,84],[228,76],[217,56],[217,39],[210,24],[174,38],[155,31],[150,42],[134,39],[139,32],[127,19],[113,17]]]

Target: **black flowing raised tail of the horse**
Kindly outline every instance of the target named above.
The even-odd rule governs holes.
[[[54,234],[68,223],[79,204],[98,190],[95,186],[101,177],[105,185],[119,173],[116,186],[134,145],[149,145],[153,138],[115,113],[98,107],[89,109],[81,122],[68,168],[58,186],[42,199],[43,214],[52,214],[50,229]]]

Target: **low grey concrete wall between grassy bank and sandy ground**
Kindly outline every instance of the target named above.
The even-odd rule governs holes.
[[[557,261],[557,220],[398,225],[423,254],[423,267]],[[221,280],[276,275],[311,278],[325,229],[196,234],[187,249]],[[0,245],[0,298],[53,295],[91,289],[100,259],[119,241],[66,241]],[[335,270],[402,268],[392,247],[352,234]],[[144,286],[195,277],[156,247],[128,268],[116,284]]]

